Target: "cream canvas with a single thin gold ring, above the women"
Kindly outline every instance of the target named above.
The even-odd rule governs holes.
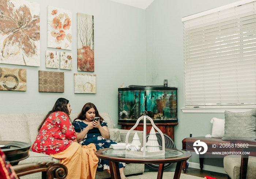
[[[96,75],[74,73],[74,93],[96,93]]]

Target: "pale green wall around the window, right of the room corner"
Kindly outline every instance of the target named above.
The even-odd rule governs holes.
[[[178,88],[178,122],[175,144],[192,136],[211,134],[213,117],[224,119],[223,113],[182,113],[184,107],[183,24],[181,18],[237,0],[154,0],[146,9],[146,85],[163,84]],[[199,163],[198,159],[191,159]],[[207,161],[206,161],[207,163]],[[211,163],[210,163],[211,165]],[[219,166],[219,164],[218,164]]]

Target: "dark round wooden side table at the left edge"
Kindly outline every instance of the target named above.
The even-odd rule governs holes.
[[[10,145],[10,148],[1,148],[11,165],[17,165],[20,160],[29,157],[31,144],[19,141],[0,141],[0,145]]]

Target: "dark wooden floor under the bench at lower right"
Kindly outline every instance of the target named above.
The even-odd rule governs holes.
[[[181,173],[183,174],[183,171]],[[211,176],[212,178],[216,178],[216,179],[227,179],[227,174],[221,174],[221,173],[211,172],[207,170],[200,170],[196,168],[188,168],[185,174],[199,176],[202,178],[204,178],[204,176]]]

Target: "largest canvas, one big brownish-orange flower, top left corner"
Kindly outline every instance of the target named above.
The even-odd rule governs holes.
[[[40,66],[40,8],[24,0],[0,0],[0,63]]]

